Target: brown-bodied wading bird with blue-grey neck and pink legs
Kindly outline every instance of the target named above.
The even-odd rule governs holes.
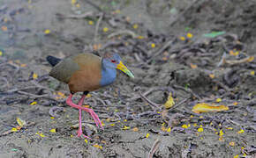
[[[89,137],[82,133],[82,111],[89,112],[94,118],[96,126],[102,127],[98,115],[92,109],[81,106],[87,94],[113,83],[117,77],[117,69],[132,78],[134,77],[132,72],[124,66],[120,56],[115,53],[105,53],[102,58],[94,54],[78,54],[63,60],[47,56],[47,61],[53,66],[49,75],[68,84],[71,95],[67,98],[66,104],[79,109],[78,136],[83,135],[86,138]],[[84,92],[79,104],[72,102],[72,95],[76,92]]]

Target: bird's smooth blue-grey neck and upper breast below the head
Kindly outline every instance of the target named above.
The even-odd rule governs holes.
[[[117,76],[117,69],[114,68],[102,68],[101,86],[107,86],[113,83]]]

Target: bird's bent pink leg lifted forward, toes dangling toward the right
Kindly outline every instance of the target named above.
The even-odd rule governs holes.
[[[85,96],[83,96],[81,99],[84,100]],[[81,99],[80,99],[80,101],[81,101]],[[83,103],[83,100],[82,100],[81,104]],[[94,122],[95,122],[96,126],[100,125],[102,127],[102,129],[103,129],[102,122],[101,122],[100,118],[98,117],[98,115],[92,109],[89,109],[89,108],[86,108],[86,107],[82,107],[80,105],[72,103],[72,94],[67,98],[66,104],[72,106],[73,108],[89,112],[91,114],[91,116],[94,118]]]

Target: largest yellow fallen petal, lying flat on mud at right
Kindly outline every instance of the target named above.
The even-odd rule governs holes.
[[[201,104],[196,104],[192,108],[192,111],[195,113],[200,113],[200,112],[214,112],[214,111],[228,111],[229,107],[225,105],[217,105],[213,106],[210,104],[206,103],[201,103]]]

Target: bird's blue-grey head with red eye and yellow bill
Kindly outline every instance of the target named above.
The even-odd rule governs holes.
[[[132,72],[124,66],[121,57],[117,53],[105,53],[102,58],[104,68],[113,68],[123,71],[126,75],[134,78]]]

